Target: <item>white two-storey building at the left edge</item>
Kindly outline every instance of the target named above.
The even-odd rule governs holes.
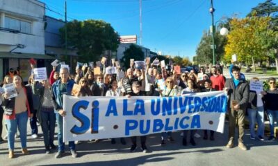
[[[18,67],[26,81],[28,59],[37,59],[38,67],[53,59],[44,55],[44,6],[36,0],[0,1],[0,81]]]

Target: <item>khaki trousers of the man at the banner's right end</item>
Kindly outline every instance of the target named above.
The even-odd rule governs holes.
[[[236,122],[238,124],[238,142],[243,142],[245,110],[229,109],[229,140],[234,141]]]

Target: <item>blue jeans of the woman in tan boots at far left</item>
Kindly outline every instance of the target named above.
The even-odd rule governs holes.
[[[20,140],[22,143],[22,148],[26,148],[27,141],[27,121],[28,121],[28,113],[27,111],[23,113],[15,114],[14,120],[6,119],[7,127],[8,127],[8,147],[9,150],[15,149],[15,133],[17,132],[17,127],[19,129]]]

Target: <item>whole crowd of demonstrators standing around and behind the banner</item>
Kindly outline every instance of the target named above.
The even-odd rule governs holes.
[[[0,136],[2,128],[7,130],[6,139],[8,140],[9,158],[14,158],[15,136],[18,135],[22,144],[22,153],[29,154],[27,149],[27,123],[28,118],[31,127],[31,138],[38,138],[38,124],[42,127],[44,138],[44,147],[46,154],[56,151],[54,145],[55,127],[58,128],[58,151],[55,158],[63,157],[65,154],[65,142],[63,142],[63,116],[66,111],[63,109],[63,95],[72,95],[74,84],[78,84],[81,89],[77,96],[161,96],[172,97],[185,95],[188,93],[202,93],[209,91],[226,91],[228,96],[227,113],[229,114],[229,136],[227,147],[234,147],[235,129],[238,127],[238,147],[246,150],[243,136],[245,133],[244,120],[246,111],[250,121],[250,139],[264,140],[264,115],[265,111],[270,120],[270,136],[268,140],[274,140],[275,122],[278,120],[278,89],[276,80],[270,77],[268,91],[251,91],[249,83],[240,73],[238,66],[231,66],[231,79],[226,79],[222,75],[222,69],[219,66],[213,66],[211,72],[205,73],[203,67],[199,68],[199,77],[195,71],[180,73],[175,71],[173,66],[167,69],[161,65],[154,65],[145,62],[145,68],[138,68],[131,62],[130,68],[126,71],[117,66],[116,73],[106,73],[106,66],[101,65],[101,73],[95,73],[94,68],[88,66],[76,66],[75,72],[71,75],[69,68],[60,68],[58,72],[53,67],[49,79],[41,82],[34,81],[32,74],[28,79],[28,84],[24,85],[19,73],[6,75],[3,79],[5,84],[14,84],[17,91],[17,97],[9,98],[8,93],[1,93],[0,100]],[[114,66],[114,64],[113,64]],[[34,68],[33,65],[31,65]],[[124,73],[124,77],[121,77]],[[258,81],[254,77],[252,80]],[[2,119],[5,119],[2,125]],[[258,123],[258,129],[255,131],[255,124]],[[4,127],[3,127],[4,126]],[[188,141],[188,132],[190,132]],[[181,144],[187,146],[188,142],[195,146],[195,137],[201,137],[207,140],[215,140],[214,131],[204,130],[197,133],[196,130],[185,130],[181,133],[183,140]],[[161,133],[161,146],[168,142],[174,142],[172,132]],[[0,142],[5,140],[0,137]],[[115,138],[111,138],[111,143],[115,144]],[[120,138],[120,142],[125,145],[125,138]],[[136,136],[131,137],[131,149],[137,148]],[[147,152],[147,136],[140,136],[140,147],[143,152]],[[76,152],[76,142],[69,142],[72,157],[78,156]]]

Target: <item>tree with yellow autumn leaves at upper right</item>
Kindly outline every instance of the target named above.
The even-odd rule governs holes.
[[[268,30],[270,17],[256,17],[256,12],[252,17],[244,19],[231,19],[231,31],[227,36],[224,59],[231,61],[231,55],[238,55],[238,62],[252,62],[254,71],[255,62],[264,59],[265,48],[261,42],[261,35]]]

